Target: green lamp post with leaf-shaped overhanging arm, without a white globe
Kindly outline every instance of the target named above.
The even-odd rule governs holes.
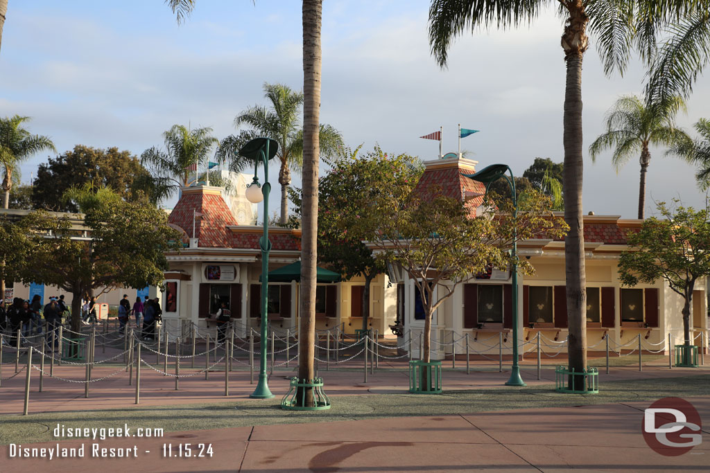
[[[506,175],[510,172],[510,177]],[[474,181],[486,184],[486,193],[493,182],[501,177],[505,177],[510,184],[510,193],[513,195],[513,219],[518,218],[518,196],[515,194],[515,179],[513,171],[508,165],[490,165],[484,167],[474,174],[464,174],[464,176],[474,179]],[[517,227],[513,228],[513,367],[510,369],[510,379],[506,386],[526,386],[523,378],[520,377],[520,366],[518,365],[518,237]]]

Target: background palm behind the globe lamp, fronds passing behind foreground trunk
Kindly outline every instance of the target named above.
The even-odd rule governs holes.
[[[222,141],[219,156],[231,157],[231,169],[241,171],[253,165],[234,158],[236,150],[257,135],[272,138],[278,142],[276,157],[279,160],[278,183],[281,184],[281,224],[288,222],[288,186],[291,172],[300,171],[303,162],[303,130],[298,116],[303,104],[303,94],[284,84],[263,85],[264,96],[271,104],[270,108],[255,105],[247,108],[234,118],[234,126],[247,125],[251,129],[242,130],[237,135],[230,135]],[[333,155],[342,146],[342,136],[332,126],[320,126],[322,145],[320,152],[325,156]]]

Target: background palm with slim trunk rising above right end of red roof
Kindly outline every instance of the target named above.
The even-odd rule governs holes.
[[[675,126],[675,115],[686,111],[679,96],[655,104],[634,95],[622,96],[606,114],[606,132],[589,146],[591,160],[603,150],[614,149],[611,162],[616,171],[640,152],[641,178],[638,188],[638,218],[644,218],[646,172],[651,161],[649,145],[675,146],[689,142],[689,136]]]

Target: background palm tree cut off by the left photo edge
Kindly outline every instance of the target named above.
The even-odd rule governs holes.
[[[28,116],[19,115],[0,118],[0,165],[4,171],[2,181],[2,189],[5,191],[4,208],[9,208],[12,174],[18,171],[20,162],[40,151],[56,151],[54,143],[48,137],[32,135],[23,128],[23,123],[29,120]]]

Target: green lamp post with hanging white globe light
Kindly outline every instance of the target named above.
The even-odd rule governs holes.
[[[256,389],[249,395],[251,398],[268,399],[272,398],[271,390],[268,389],[268,377],[266,375],[266,306],[268,304],[268,254],[271,251],[271,241],[268,239],[268,194],[271,191],[271,184],[268,182],[268,161],[276,155],[278,143],[271,138],[254,138],[239,150],[239,155],[254,162],[254,179],[246,187],[246,199],[252,204],[264,201],[264,234],[259,240],[261,247],[261,348],[259,349],[259,381]],[[256,171],[262,165],[264,168],[264,183],[259,185]]]

